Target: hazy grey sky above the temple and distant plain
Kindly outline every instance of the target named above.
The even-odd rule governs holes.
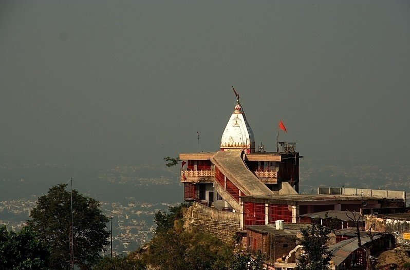
[[[235,106],[274,150],[410,162],[410,1],[2,1],[0,162],[163,164]]]

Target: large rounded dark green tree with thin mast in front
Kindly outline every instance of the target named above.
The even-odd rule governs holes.
[[[52,269],[70,268],[69,230],[71,223],[71,192],[66,184],[53,186],[41,196],[31,210],[29,224],[50,247]],[[108,218],[101,213],[99,202],[72,190],[74,264],[90,269],[99,253],[108,245]]]

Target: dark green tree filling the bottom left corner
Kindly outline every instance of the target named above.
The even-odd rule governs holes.
[[[30,226],[18,233],[0,227],[0,269],[47,269],[49,256],[47,246]]]

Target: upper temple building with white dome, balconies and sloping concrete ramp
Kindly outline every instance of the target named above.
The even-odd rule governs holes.
[[[253,131],[237,95],[220,151],[179,154],[184,200],[238,211],[241,196],[297,194],[302,157],[295,145],[281,142],[280,151],[266,152],[262,145],[255,151]]]

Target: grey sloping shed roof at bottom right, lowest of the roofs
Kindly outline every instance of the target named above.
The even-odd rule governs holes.
[[[362,236],[360,237],[362,241],[362,245],[365,245],[366,243],[370,242],[370,237],[369,236]],[[381,236],[374,236],[373,240],[379,239]],[[339,243],[336,243],[334,245],[331,245],[329,247],[329,250],[332,252],[333,257],[332,260],[334,261],[335,265],[341,264],[346,258],[356,249],[359,248],[357,245],[358,239],[357,237],[355,238],[350,238],[344,241],[340,241]]]

